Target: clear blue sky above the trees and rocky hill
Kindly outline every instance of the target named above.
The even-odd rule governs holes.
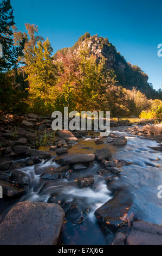
[[[24,23],[35,24],[54,52],[73,46],[89,32],[108,38],[127,62],[138,65],[153,83],[162,86],[161,0],[11,0],[18,30]]]

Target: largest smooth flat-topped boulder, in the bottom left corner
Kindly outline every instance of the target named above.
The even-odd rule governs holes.
[[[63,219],[58,204],[18,203],[0,225],[0,245],[56,245]]]

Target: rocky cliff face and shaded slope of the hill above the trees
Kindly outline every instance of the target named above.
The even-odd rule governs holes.
[[[63,48],[61,52],[67,54],[69,51],[77,54],[82,47],[87,46],[90,54],[96,57],[96,61],[99,62],[102,57],[106,59],[107,69],[113,69],[116,75],[118,84],[127,89],[136,87],[146,94],[153,92],[152,88],[148,84],[148,76],[138,66],[127,63],[125,58],[121,56],[120,52],[116,51],[115,46],[108,41],[107,38],[99,37],[98,35],[88,36],[83,35],[72,48]],[[54,56],[57,58],[57,53]],[[148,90],[148,92],[147,92]],[[115,122],[114,122],[115,124]],[[111,125],[116,126],[116,125]]]

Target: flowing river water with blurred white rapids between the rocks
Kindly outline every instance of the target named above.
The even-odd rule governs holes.
[[[144,137],[132,136],[126,127],[118,127],[111,132],[125,136],[127,144],[125,146],[109,145],[108,143],[96,145],[92,138],[81,138],[79,143],[68,149],[68,155],[90,154],[94,153],[96,149],[109,148],[114,158],[131,162],[130,165],[123,166],[119,178],[113,182],[113,190],[127,187],[133,200],[134,216],[141,220],[162,224],[162,199],[157,196],[157,188],[162,185],[162,154],[148,148],[155,147],[158,143]],[[49,147],[40,149],[49,151]],[[41,164],[59,166],[55,162],[55,153],[52,154],[53,158],[43,161]],[[105,178],[96,172],[99,166],[100,163],[94,161],[87,169],[77,170],[69,179],[57,180],[41,179],[39,175],[35,175],[35,166],[21,168],[23,172],[30,175],[32,180],[29,192],[20,199],[3,200],[0,205],[0,221],[17,202],[25,200],[47,202],[51,194],[56,194],[60,200],[64,200],[66,203],[73,202],[82,211],[88,212],[80,224],[75,225],[70,221],[65,221],[59,243],[63,245],[107,245],[111,241],[112,233],[101,228],[96,221],[94,211],[111,199],[113,194],[111,190],[108,190]],[[95,176],[94,185],[91,188],[83,189],[76,187],[75,179],[86,175]]]

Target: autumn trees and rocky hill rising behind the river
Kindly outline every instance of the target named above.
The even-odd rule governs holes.
[[[1,113],[43,114],[68,106],[111,111],[112,117],[161,118],[161,90],[153,90],[148,76],[107,38],[86,33],[53,56],[36,25],[26,23],[25,32],[17,31],[10,1],[2,1],[0,14]]]

